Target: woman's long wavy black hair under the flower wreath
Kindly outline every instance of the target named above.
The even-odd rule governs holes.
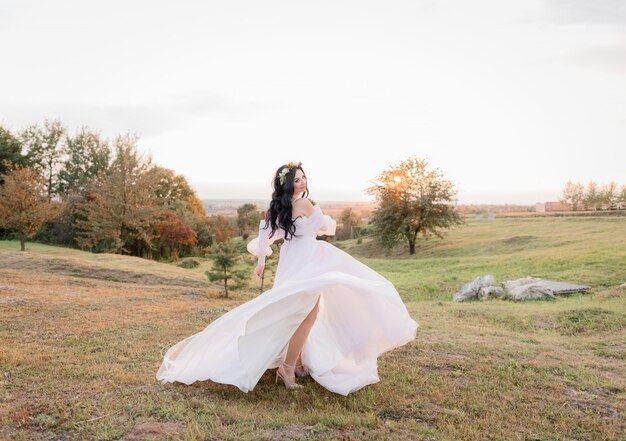
[[[285,240],[291,240],[296,234],[296,226],[291,219],[291,198],[293,197],[293,181],[296,176],[296,170],[304,170],[301,166],[292,167],[285,175],[285,180],[280,183],[280,172],[285,167],[289,167],[287,164],[281,165],[274,173],[274,179],[272,180],[272,201],[270,202],[270,208],[265,215],[265,228],[272,228],[270,237],[274,235],[277,229],[282,228],[285,230]],[[309,189],[304,191],[302,197],[309,195]]]

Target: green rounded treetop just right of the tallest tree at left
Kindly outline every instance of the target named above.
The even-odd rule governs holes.
[[[111,161],[109,142],[98,132],[83,127],[75,136],[67,136],[65,161],[59,171],[59,192],[85,192],[104,176]]]

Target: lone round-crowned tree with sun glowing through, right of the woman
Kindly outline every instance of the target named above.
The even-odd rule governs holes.
[[[418,235],[443,237],[443,231],[463,220],[452,202],[456,190],[438,170],[429,170],[424,159],[409,158],[384,170],[367,193],[378,207],[372,213],[372,234],[390,248],[405,239],[415,254]]]

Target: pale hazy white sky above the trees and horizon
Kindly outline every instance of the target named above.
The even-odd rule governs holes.
[[[201,198],[367,201],[425,158],[460,203],[626,184],[623,0],[0,0],[0,125],[140,135]]]

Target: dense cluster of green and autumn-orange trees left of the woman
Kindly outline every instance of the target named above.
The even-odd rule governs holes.
[[[237,234],[227,218],[207,216],[185,177],[141,154],[138,141],[86,127],[70,133],[58,120],[18,133],[0,126],[0,237],[17,236],[22,248],[34,237],[177,259]]]

